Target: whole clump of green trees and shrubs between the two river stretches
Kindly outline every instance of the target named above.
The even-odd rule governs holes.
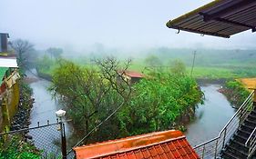
[[[177,62],[169,72],[147,70],[145,78],[128,83],[118,70],[128,70],[130,61],[115,58],[95,60],[94,67],[60,60],[50,88],[74,121],[78,132],[92,134],[89,142],[179,127],[180,116],[193,115],[202,93],[195,80]],[[179,123],[179,124],[176,124]]]

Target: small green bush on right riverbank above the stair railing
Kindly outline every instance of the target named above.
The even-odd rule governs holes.
[[[226,83],[227,90],[224,94],[229,98],[230,103],[239,107],[245,99],[249,96],[250,92],[238,81],[229,81]]]

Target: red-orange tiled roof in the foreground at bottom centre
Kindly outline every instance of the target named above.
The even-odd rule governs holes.
[[[200,158],[191,148],[186,137],[180,131],[175,130],[83,145],[74,148],[74,150],[77,159]]]

